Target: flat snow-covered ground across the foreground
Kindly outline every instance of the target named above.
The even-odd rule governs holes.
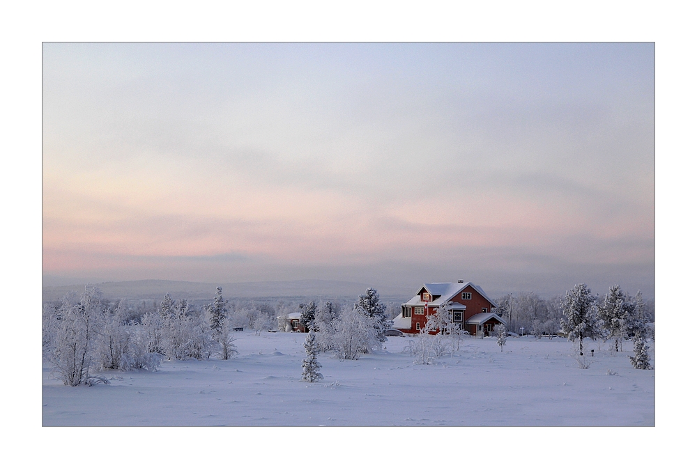
[[[305,334],[238,333],[235,359],[164,361],[155,373],[105,373],[110,385],[64,386],[43,367],[43,425],[652,426],[654,370],[597,343],[581,369],[564,338],[468,338],[453,357],[415,365],[411,338],[358,361],[320,354],[325,379],[300,381]],[[653,357],[654,344],[650,343]],[[607,375],[612,369],[617,375]]]

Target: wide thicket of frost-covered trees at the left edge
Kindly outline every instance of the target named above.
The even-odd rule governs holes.
[[[208,359],[236,354],[227,301],[217,288],[202,309],[168,294],[157,311],[134,318],[124,301],[110,304],[93,285],[68,292],[43,313],[43,352],[66,385],[107,382],[100,370],[156,370],[162,359]]]

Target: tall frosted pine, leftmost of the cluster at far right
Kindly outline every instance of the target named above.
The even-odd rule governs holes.
[[[569,340],[579,340],[579,352],[583,356],[583,338],[595,336],[597,331],[595,297],[588,285],[576,284],[571,292],[567,291],[563,308],[566,318],[562,320],[562,331]]]

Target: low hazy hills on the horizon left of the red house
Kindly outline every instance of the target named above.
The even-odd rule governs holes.
[[[215,288],[222,287],[227,299],[275,299],[280,297],[358,297],[372,287],[378,291],[383,301],[406,301],[413,295],[413,288],[390,288],[380,285],[368,285],[346,281],[320,281],[308,279],[303,281],[261,281],[243,283],[199,283],[185,281],[121,281],[94,283],[107,299],[159,300],[164,294],[175,299],[190,301],[210,301],[215,296]],[[413,286],[410,286],[413,287]],[[43,301],[59,300],[70,290],[78,293],[84,290],[84,284],[44,285]]]

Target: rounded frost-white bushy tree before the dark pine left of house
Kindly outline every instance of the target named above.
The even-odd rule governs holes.
[[[335,354],[339,359],[358,359],[380,345],[377,338],[376,319],[367,315],[359,306],[344,308],[336,322],[333,336]]]

